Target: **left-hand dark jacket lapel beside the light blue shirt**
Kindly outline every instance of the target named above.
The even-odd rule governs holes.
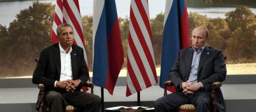
[[[186,61],[185,62],[188,62],[189,64],[185,64],[186,65],[186,70],[187,73],[186,74],[189,74],[190,73],[190,69],[191,69],[191,64],[192,64],[192,59],[193,59],[193,51],[192,51],[192,48],[188,49],[189,52],[187,52],[188,54],[186,54]],[[188,80],[189,78],[189,75],[186,75],[186,80]]]

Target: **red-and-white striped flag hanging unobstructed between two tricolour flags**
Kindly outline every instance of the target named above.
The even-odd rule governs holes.
[[[149,8],[146,0],[131,0],[126,96],[157,83]]]

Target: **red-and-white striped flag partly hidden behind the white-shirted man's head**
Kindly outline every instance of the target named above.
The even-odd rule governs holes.
[[[82,20],[80,15],[80,7],[78,0],[56,0],[54,21],[51,32],[51,39],[53,43],[57,43],[56,29],[59,25],[67,23],[72,26],[74,30],[74,44],[84,49],[84,58],[86,62],[86,69],[88,70],[88,61],[85,51],[85,41],[82,27]],[[83,87],[87,91],[87,87]]]

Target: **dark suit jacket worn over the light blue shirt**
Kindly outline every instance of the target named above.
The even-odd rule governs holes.
[[[193,50],[191,47],[179,52],[169,74],[175,87],[178,89],[181,82],[189,78]],[[198,82],[204,85],[203,91],[211,91],[213,82],[222,82],[226,78],[226,63],[221,50],[205,47],[201,54],[198,66]],[[216,102],[219,111],[225,111],[225,104],[220,88],[216,89]]]

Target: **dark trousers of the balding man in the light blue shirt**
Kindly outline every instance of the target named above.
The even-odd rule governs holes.
[[[193,95],[176,92],[157,99],[154,108],[156,112],[176,111],[183,104],[193,104],[197,112],[207,112],[210,111],[210,95],[210,92],[205,91],[194,92]]]

